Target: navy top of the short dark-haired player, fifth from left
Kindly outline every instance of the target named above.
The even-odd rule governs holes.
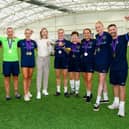
[[[81,57],[81,44],[77,43],[70,43],[69,48],[71,48],[71,51],[69,53],[69,61],[80,61],[80,57]]]

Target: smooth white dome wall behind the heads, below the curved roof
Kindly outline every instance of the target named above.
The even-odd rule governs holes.
[[[42,27],[46,27],[49,31],[49,37],[55,39],[58,28],[64,28],[66,34],[70,34],[71,31],[76,30],[82,33],[85,27],[91,28],[95,33],[95,22],[101,20],[105,25],[115,23],[118,26],[119,34],[129,31],[129,22],[124,17],[129,15],[127,10],[110,10],[110,11],[92,11],[83,13],[73,13],[69,15],[63,15],[59,17],[52,17],[45,20],[40,20],[32,24],[26,25],[22,28],[16,29],[16,35],[18,37],[24,37],[24,29],[31,28],[34,30],[33,38],[39,37],[39,31]]]

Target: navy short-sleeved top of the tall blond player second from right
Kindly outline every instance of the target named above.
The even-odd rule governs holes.
[[[109,65],[111,61],[110,44],[112,37],[108,32],[96,35],[95,64]]]

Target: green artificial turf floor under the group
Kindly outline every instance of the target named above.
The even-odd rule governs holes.
[[[1,51],[0,51],[1,52]],[[1,55],[0,55],[0,58]],[[2,63],[0,63],[2,66]],[[85,94],[81,77],[80,97],[65,98],[53,96],[56,91],[53,58],[51,57],[49,76],[49,93],[42,100],[36,100],[36,69],[32,79],[31,102],[16,100],[11,85],[11,101],[5,100],[2,68],[0,68],[0,129],[129,129],[129,79],[127,81],[126,117],[119,118],[117,110],[108,110],[107,104],[101,105],[99,112],[93,111],[97,94],[97,74],[93,79],[93,99],[86,103],[82,96]],[[110,102],[113,100],[112,87],[107,78]],[[19,76],[19,88],[23,95],[22,75]],[[63,91],[63,88],[62,88]]]

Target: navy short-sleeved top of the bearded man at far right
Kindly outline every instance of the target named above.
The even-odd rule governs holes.
[[[129,34],[120,35],[114,39],[111,44],[111,70],[124,71],[128,69],[127,63],[127,46],[129,41]],[[116,43],[116,49],[113,49],[113,43]],[[114,57],[115,54],[115,57]]]

